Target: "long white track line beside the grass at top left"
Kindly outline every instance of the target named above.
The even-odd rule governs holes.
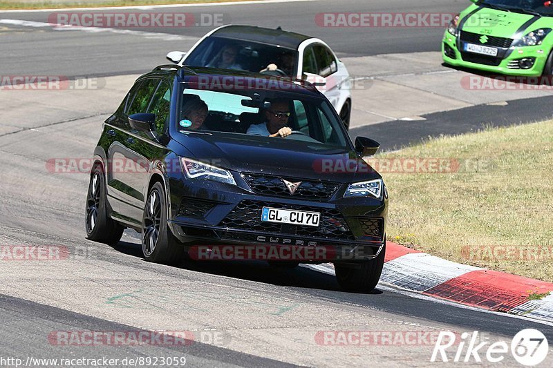
[[[60,9],[14,9],[0,10],[1,13],[10,12],[67,12],[78,10],[124,10],[124,9],[163,9],[163,8],[191,8],[194,6],[235,6],[235,5],[255,5],[255,4],[271,4],[271,3],[298,3],[303,1],[320,1],[320,0],[255,0],[255,1],[225,1],[223,3],[192,3],[192,4],[167,4],[167,5],[143,5],[143,6],[104,6],[99,8],[60,8]]]

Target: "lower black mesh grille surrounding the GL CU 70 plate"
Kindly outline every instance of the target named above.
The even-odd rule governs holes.
[[[317,227],[261,222],[261,210],[263,207],[319,212],[321,213],[321,222]],[[346,224],[346,220],[344,220],[344,217],[339,211],[315,206],[297,206],[292,204],[245,200],[234,207],[229,215],[221,221],[219,226],[223,226],[227,229],[259,231],[260,233],[275,233],[281,235],[297,235],[305,238],[355,240],[348,224]]]

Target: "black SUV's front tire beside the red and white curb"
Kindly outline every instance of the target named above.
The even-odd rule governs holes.
[[[363,262],[360,269],[352,269],[341,266],[340,264],[335,264],[334,269],[338,284],[345,291],[362,293],[373,291],[380,280],[382,268],[384,267],[385,255],[386,241],[384,241],[384,246],[377,258]]]

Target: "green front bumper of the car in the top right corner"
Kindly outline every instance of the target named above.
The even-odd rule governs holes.
[[[543,46],[499,48],[498,57],[487,57],[463,51],[465,41],[451,35],[447,30],[442,40],[442,59],[452,66],[473,68],[486,72],[524,77],[538,77],[549,57],[549,50]],[[521,68],[519,61],[532,59],[531,68]]]

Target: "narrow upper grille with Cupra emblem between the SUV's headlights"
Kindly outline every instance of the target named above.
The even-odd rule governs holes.
[[[244,179],[247,184],[250,184],[252,191],[256,194],[272,195],[275,197],[298,197],[306,200],[328,200],[339,186],[339,184],[331,182],[317,182],[259,174],[244,174]],[[301,184],[294,194],[290,194],[283,179],[292,183],[301,182]]]

